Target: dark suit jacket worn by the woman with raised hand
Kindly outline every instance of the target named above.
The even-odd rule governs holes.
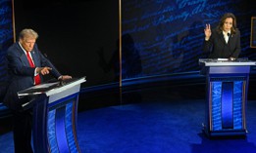
[[[237,58],[240,54],[240,31],[235,29],[235,34],[230,34],[227,44],[223,32],[216,29],[212,31],[209,41],[204,41],[204,52],[210,52],[209,58]]]

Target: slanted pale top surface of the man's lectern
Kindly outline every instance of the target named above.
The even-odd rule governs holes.
[[[71,84],[75,84],[76,82],[78,82],[79,84],[82,82],[85,82],[85,77],[72,78],[66,81],[50,80],[49,82],[46,82],[37,86],[33,86],[24,91],[21,91],[18,93],[18,96],[33,96],[33,95],[46,94],[56,89],[66,88]]]

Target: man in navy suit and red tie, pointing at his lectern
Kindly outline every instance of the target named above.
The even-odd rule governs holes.
[[[69,75],[61,75],[52,63],[42,56],[36,45],[37,37],[38,34],[34,30],[24,29],[20,33],[19,42],[14,43],[7,51],[10,82],[4,104],[13,112],[16,153],[32,153],[32,109],[24,110],[22,107],[22,104],[30,99],[19,98],[17,93],[40,84],[42,75],[51,74],[59,80],[72,78]]]

